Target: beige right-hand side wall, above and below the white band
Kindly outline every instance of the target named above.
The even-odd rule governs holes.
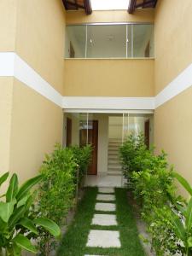
[[[191,9],[190,0],[158,1],[154,22],[156,94],[192,62]],[[192,184],[191,98],[189,88],[155,109],[154,144],[157,153],[166,150],[169,163]]]

